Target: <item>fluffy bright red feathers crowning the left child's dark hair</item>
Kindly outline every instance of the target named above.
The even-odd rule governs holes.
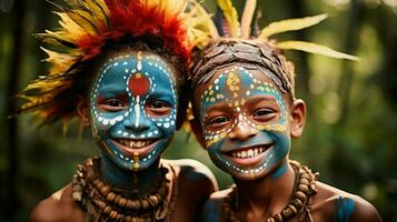
[[[99,36],[87,36],[78,42],[78,47],[86,52],[83,60],[98,56],[107,40],[151,34],[163,40],[166,50],[189,62],[191,48],[178,14],[167,14],[159,6],[148,7],[136,0],[106,0],[106,3],[110,11],[111,27]]]

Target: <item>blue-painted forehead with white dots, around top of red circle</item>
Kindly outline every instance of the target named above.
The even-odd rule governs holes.
[[[147,52],[129,52],[112,56],[100,67],[99,84],[123,83],[135,73],[150,75],[151,80],[161,84],[175,84],[173,70],[159,56]]]

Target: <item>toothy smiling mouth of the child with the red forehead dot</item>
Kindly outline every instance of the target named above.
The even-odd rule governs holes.
[[[159,139],[132,140],[132,139],[113,139],[119,150],[130,159],[133,157],[146,157],[160,142]]]

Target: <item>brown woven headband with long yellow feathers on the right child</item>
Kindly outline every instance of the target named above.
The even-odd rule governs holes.
[[[326,57],[357,61],[358,58],[335,51],[328,47],[305,41],[280,41],[270,37],[288,31],[301,30],[319,23],[327,14],[276,21],[260,30],[257,37],[251,36],[251,21],[256,10],[256,0],[246,0],[241,19],[231,0],[217,0],[218,13],[215,22],[209,14],[201,16],[206,26],[195,41],[196,48],[202,50],[192,68],[192,82],[205,82],[228,63],[246,63],[250,69],[260,69],[269,73],[281,91],[294,95],[292,64],[280,54],[280,50],[301,50]],[[201,9],[205,11],[204,9]],[[266,69],[264,69],[266,68]],[[269,71],[267,71],[269,70]]]

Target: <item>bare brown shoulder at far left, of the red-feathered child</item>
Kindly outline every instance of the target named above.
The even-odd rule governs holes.
[[[31,222],[85,221],[83,211],[71,198],[71,184],[42,200],[31,212]]]

